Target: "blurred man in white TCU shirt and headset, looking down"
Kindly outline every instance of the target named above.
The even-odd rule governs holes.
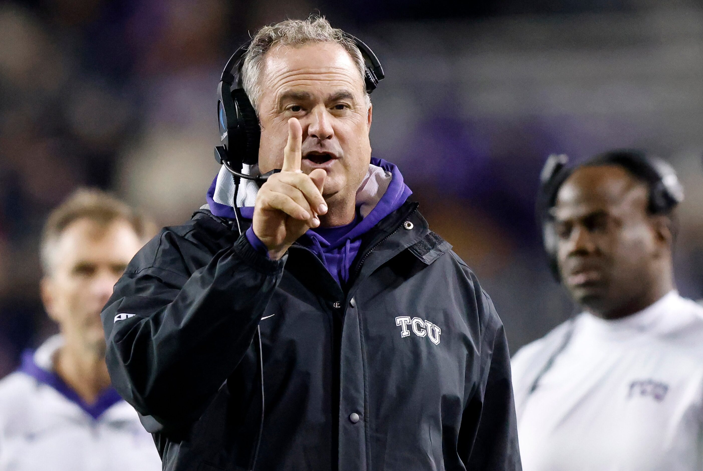
[[[524,469],[702,470],[703,308],[674,286],[676,174],[637,151],[555,162],[545,245],[584,312],[512,360]]]

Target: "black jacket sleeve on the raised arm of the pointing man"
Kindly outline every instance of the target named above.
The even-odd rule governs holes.
[[[243,358],[286,258],[269,260],[241,236],[191,275],[183,252],[193,244],[182,241],[168,230],[150,241],[101,315],[113,387],[174,429],[198,419]]]

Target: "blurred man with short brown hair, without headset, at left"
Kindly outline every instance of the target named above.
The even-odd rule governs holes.
[[[0,381],[0,470],[160,470],[138,415],[110,387],[100,310],[151,225],[96,190],[51,213],[41,297],[60,334]]]

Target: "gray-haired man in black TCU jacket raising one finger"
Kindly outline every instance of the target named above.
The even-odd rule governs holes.
[[[221,109],[207,205],[103,310],[112,382],[164,470],[520,470],[503,325],[371,157],[358,44],[324,18],[257,32],[220,89],[255,165],[236,168]]]

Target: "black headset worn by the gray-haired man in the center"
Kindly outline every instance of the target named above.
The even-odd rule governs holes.
[[[361,51],[364,61],[364,82],[366,92],[371,93],[383,80],[385,74],[381,63],[373,51],[360,39],[351,34],[344,33],[344,37],[356,44]],[[215,160],[225,165],[233,176],[247,180],[263,182],[269,177],[265,175],[251,176],[241,173],[242,164],[254,165],[259,161],[259,139],[261,128],[257,113],[249,97],[244,91],[242,83],[242,67],[244,57],[252,44],[252,40],[240,46],[232,54],[227,65],[224,66],[220,82],[217,85],[217,119],[219,121],[219,134],[221,146],[215,147]],[[233,75],[236,69],[237,75]],[[232,88],[234,86],[234,88]]]

